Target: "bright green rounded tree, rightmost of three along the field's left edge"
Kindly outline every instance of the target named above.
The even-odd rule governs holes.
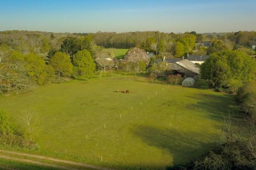
[[[75,54],[74,65],[78,68],[78,74],[90,78],[96,69],[96,65],[88,50],[82,50]]]

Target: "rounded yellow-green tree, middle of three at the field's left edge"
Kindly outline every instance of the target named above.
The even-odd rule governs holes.
[[[60,78],[61,76],[71,76],[73,65],[70,57],[62,52],[57,52],[50,59],[50,65],[53,67],[55,74]]]

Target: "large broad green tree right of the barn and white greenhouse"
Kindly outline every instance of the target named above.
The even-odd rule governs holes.
[[[200,69],[201,77],[209,80],[214,88],[237,91],[243,82],[254,78],[255,59],[239,51],[223,51],[211,54]]]

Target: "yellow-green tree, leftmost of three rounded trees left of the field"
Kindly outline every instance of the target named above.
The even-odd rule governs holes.
[[[39,55],[28,54],[25,56],[25,61],[27,74],[34,82],[43,85],[49,80],[48,68]]]

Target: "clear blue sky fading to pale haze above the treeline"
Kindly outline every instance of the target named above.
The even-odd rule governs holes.
[[[256,30],[256,0],[0,0],[0,30]]]

